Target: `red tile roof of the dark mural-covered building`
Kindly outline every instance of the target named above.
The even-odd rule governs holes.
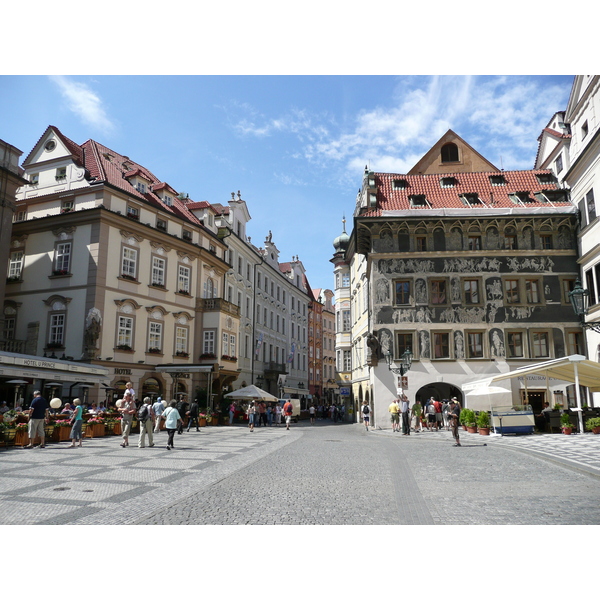
[[[377,185],[377,207],[365,212],[362,216],[381,216],[384,210],[413,210],[427,211],[436,208],[465,208],[477,210],[485,208],[514,208],[515,203],[509,194],[516,192],[529,192],[528,206],[542,206],[533,195],[544,190],[560,189],[556,183],[540,183],[537,175],[552,175],[549,170],[531,171],[490,171],[484,173],[444,173],[432,175],[401,175],[394,173],[375,173]],[[490,177],[503,176],[505,185],[492,185]],[[442,187],[441,180],[454,178],[454,187]],[[405,189],[395,189],[394,180],[405,180]],[[477,206],[465,205],[461,200],[462,194],[476,193],[481,204]],[[427,205],[412,207],[409,197],[425,195]],[[570,206],[569,201],[554,202],[555,205]]]

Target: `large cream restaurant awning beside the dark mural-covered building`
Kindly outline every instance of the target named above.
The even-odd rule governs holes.
[[[486,379],[472,381],[464,385],[463,390],[473,390],[479,386],[492,385],[504,379],[525,377],[526,375],[533,374],[546,375],[547,377],[569,383],[578,383],[589,388],[592,392],[600,392],[600,363],[587,360],[585,356],[580,354],[572,354],[571,356],[565,356],[565,358],[557,358],[535,365],[519,367],[508,373],[501,373],[487,377]]]

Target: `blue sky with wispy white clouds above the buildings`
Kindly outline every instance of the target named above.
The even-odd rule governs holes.
[[[365,165],[408,171],[449,128],[498,167],[533,167],[573,76],[2,76],[0,138],[23,159],[48,125],[95,139],[196,201],[238,190],[261,245],[331,288]]]

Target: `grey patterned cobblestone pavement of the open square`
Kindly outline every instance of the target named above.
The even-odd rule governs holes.
[[[1,524],[600,524],[600,436],[320,422],[0,450]]]

